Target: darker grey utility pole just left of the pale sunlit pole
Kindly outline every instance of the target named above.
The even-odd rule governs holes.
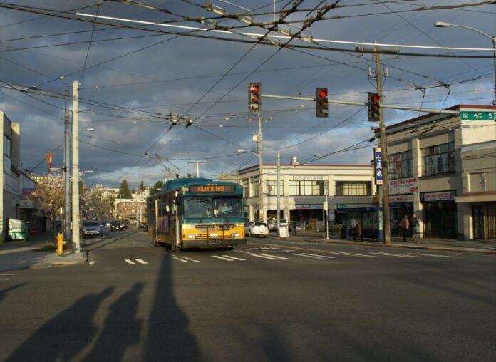
[[[66,98],[66,109],[63,117],[63,135],[64,135],[64,148],[63,148],[63,182],[64,182],[64,220],[63,220],[63,238],[66,242],[71,239],[71,123],[69,121],[69,91],[64,92]]]

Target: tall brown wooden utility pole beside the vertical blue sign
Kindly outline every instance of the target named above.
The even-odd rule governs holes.
[[[379,46],[375,46],[376,50],[376,82],[377,93],[379,100],[382,103],[382,76],[381,76],[381,53]],[[388,143],[386,141],[386,126],[384,125],[384,113],[382,107],[379,107],[379,130],[381,134],[381,158],[383,172],[383,232],[384,244],[391,244],[391,230],[389,227],[389,181],[388,181]]]

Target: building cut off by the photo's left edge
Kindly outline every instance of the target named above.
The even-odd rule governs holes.
[[[19,179],[21,176],[21,124],[9,120],[5,113],[0,111],[0,128],[4,135],[0,140],[2,160],[0,162],[0,237],[6,238],[6,226],[9,218],[18,219],[18,205],[20,200]]]

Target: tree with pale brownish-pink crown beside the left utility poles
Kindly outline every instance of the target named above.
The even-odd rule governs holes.
[[[36,188],[28,196],[29,200],[43,210],[53,221],[53,243],[56,244],[57,217],[64,206],[64,182],[62,175],[47,175],[36,183]]]

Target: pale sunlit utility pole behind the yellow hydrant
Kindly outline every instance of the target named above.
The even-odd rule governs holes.
[[[72,242],[74,252],[81,252],[79,243],[79,83],[73,81],[73,134],[72,134]]]

